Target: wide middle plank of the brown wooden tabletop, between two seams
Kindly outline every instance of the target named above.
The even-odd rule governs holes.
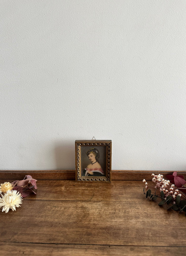
[[[179,229],[172,232],[175,218]],[[16,212],[1,213],[1,222],[0,239],[6,242],[186,246],[184,215],[146,200],[25,200]]]

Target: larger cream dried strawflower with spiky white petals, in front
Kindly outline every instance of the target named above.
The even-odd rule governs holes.
[[[2,212],[5,211],[6,213],[10,209],[16,211],[15,207],[19,207],[22,204],[22,199],[21,194],[17,190],[9,190],[0,198],[0,209],[3,208]]]

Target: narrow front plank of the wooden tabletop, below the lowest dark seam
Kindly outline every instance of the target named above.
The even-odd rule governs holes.
[[[110,246],[110,245],[67,245],[67,244],[24,244],[0,242],[2,255],[43,255],[43,256],[155,256],[179,255],[185,256],[185,247],[174,246]],[[9,248],[9,252],[7,252]]]

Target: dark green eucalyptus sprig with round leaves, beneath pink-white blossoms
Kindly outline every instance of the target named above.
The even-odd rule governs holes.
[[[159,202],[158,205],[171,204],[168,207],[168,209],[173,209],[174,211],[180,210],[179,212],[182,212],[182,211],[186,212],[186,200],[181,200],[181,197],[179,195],[177,195],[176,201],[174,201],[172,196],[165,197],[165,194],[163,191],[160,192],[160,196],[156,194],[156,190],[154,194],[151,194],[150,189],[148,189],[146,193],[145,193],[145,189],[143,189],[143,192],[144,192],[143,194],[146,195],[146,198],[150,197],[149,200],[152,199],[153,201],[155,201],[158,197],[161,198],[161,201]],[[186,216],[186,213],[185,213],[185,216]]]

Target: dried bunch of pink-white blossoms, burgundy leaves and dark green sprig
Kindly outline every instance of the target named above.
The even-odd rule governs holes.
[[[161,201],[158,205],[167,204],[170,205],[168,209],[186,212],[186,188],[183,186],[186,181],[184,180],[183,175],[177,175],[177,172],[173,172],[172,175],[167,175],[166,178],[171,181],[165,180],[162,174],[155,175],[152,173],[152,177],[152,182],[156,183],[154,186],[156,189],[154,194],[151,189],[148,189],[149,186],[152,188],[153,186],[148,184],[145,179],[143,180],[145,189],[148,189],[146,192],[145,189],[143,189],[146,198],[150,197],[153,201],[160,198]]]

